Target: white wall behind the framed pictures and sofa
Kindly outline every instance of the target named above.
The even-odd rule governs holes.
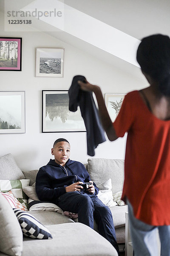
[[[0,24],[3,24],[2,18],[1,15]],[[71,144],[71,159],[86,163],[89,156],[85,132],[41,133],[41,90],[68,90],[77,74],[99,84],[103,93],[127,93],[145,84],[43,32],[11,33],[5,32],[2,26],[0,35],[23,38],[22,72],[0,71],[0,90],[26,91],[26,134],[0,134],[0,156],[11,153],[21,169],[39,169],[52,157],[54,141],[64,137]],[[65,48],[64,78],[35,77],[36,47]],[[95,157],[121,159],[124,154],[125,139],[118,139],[99,145]]]

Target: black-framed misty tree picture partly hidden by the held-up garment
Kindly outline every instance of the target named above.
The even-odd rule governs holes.
[[[68,109],[68,90],[42,90],[42,132],[86,131],[80,110]]]

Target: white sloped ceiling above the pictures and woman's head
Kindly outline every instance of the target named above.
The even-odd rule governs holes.
[[[10,8],[16,3],[22,3],[20,9],[28,9],[28,6],[39,2],[39,0],[5,1],[6,5],[10,4]],[[41,0],[38,6],[42,6],[43,3],[50,5],[50,2],[55,3],[55,0]],[[65,26],[65,29],[61,29],[54,24],[37,20],[37,23],[34,23],[35,29],[71,44],[138,79],[143,79],[135,60],[139,40],[154,33],[170,35],[169,0],[59,0],[59,2],[65,4],[65,20],[68,18],[68,13],[74,10],[74,15],[77,17],[79,15],[80,21],[77,22],[73,16],[69,16],[69,28],[66,29]],[[4,10],[3,0],[0,0],[0,10]],[[84,26],[83,24],[78,26],[82,20]],[[75,22],[77,22],[76,28]],[[80,33],[79,36],[81,27],[83,35]],[[89,34],[90,31],[92,34]]]

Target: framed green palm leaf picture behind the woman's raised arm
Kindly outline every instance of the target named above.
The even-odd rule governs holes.
[[[112,122],[116,119],[120,108],[122,106],[123,99],[126,94],[111,94],[105,93],[105,104],[108,109],[108,113],[111,117]]]

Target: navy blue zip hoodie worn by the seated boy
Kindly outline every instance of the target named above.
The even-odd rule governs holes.
[[[90,180],[90,175],[82,163],[68,159],[63,167],[55,163],[55,160],[50,159],[49,163],[42,166],[38,171],[35,188],[41,201],[50,201],[57,204],[59,196],[66,193],[66,186],[78,181],[89,182]],[[94,196],[98,194],[99,189],[95,183],[93,184],[95,187]],[[84,193],[83,190],[81,192]]]

